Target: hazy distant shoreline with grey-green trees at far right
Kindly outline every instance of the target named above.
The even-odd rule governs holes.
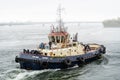
[[[56,24],[57,22],[9,22],[0,23],[0,26],[13,26],[13,25],[45,25],[45,24]],[[120,25],[111,24],[108,20],[103,22],[64,22],[65,24],[81,24],[81,23],[102,23],[105,28],[120,28]],[[120,23],[119,23],[120,24]]]

